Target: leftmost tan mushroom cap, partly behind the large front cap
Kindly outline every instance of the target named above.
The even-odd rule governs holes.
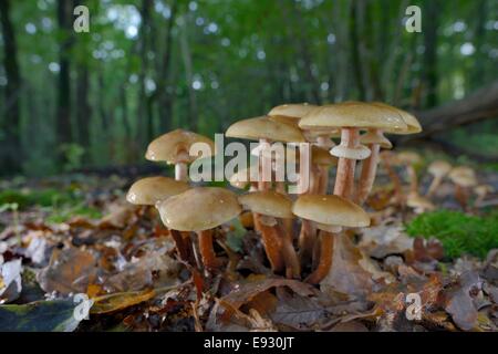
[[[157,201],[184,192],[190,187],[186,181],[169,177],[145,177],[129,187],[126,200],[135,205],[155,206]]]

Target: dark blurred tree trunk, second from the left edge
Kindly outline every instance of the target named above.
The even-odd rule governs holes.
[[[58,0],[58,23],[64,37],[60,44],[58,110],[56,110],[56,140],[58,144],[72,142],[71,132],[71,81],[70,81],[70,50],[72,39],[72,2]]]

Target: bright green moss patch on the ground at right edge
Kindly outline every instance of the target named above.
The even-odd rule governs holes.
[[[498,248],[498,212],[485,217],[449,210],[427,212],[413,219],[406,231],[413,237],[439,239],[448,258],[464,253],[484,258]]]

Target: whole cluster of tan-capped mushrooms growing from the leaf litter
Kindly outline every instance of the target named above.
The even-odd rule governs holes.
[[[147,159],[175,165],[175,179],[141,179],[132,186],[127,199],[154,206],[178,257],[207,274],[222,264],[214,247],[219,227],[242,215],[243,225],[260,236],[274,273],[318,284],[330,271],[334,239],[346,237],[347,228],[370,226],[371,218],[362,206],[375,180],[381,148],[392,148],[385,134],[421,131],[413,115],[382,103],[284,104],[267,115],[238,121],[226,132],[227,137],[258,144],[251,152],[257,163],[228,178],[235,189],[248,191],[190,186],[187,166],[199,157],[189,155],[191,145],[206,143],[215,154],[215,144],[177,129],[156,138],[146,153]],[[271,149],[272,143],[283,144],[284,149]],[[302,146],[309,154],[297,152],[295,147]],[[297,195],[290,192],[288,179],[277,178],[284,175],[279,160],[293,165]],[[414,175],[411,163],[404,164]],[[335,166],[332,184],[330,173]]]

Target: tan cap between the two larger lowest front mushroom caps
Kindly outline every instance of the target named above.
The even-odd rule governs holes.
[[[260,215],[292,219],[292,200],[273,190],[253,191],[239,196],[239,204],[243,209],[251,210]]]

